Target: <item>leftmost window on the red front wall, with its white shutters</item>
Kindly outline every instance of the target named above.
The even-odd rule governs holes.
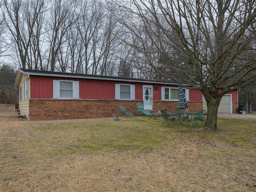
[[[54,99],[79,99],[79,81],[53,80]]]

